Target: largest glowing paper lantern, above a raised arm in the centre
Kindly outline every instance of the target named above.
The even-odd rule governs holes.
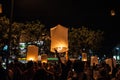
[[[50,29],[51,32],[51,52],[56,49],[59,53],[68,50],[68,28],[57,25]]]

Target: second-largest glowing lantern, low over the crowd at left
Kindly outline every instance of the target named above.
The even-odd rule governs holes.
[[[38,61],[38,47],[35,45],[29,45],[27,50],[27,61]]]

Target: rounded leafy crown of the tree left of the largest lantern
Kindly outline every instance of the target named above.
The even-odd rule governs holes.
[[[27,22],[21,32],[21,41],[32,42],[42,40],[43,34],[45,34],[45,25],[41,24],[40,21]]]

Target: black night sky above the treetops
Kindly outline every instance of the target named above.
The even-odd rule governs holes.
[[[9,1],[9,2],[8,2]],[[10,1],[3,3],[3,14],[10,16]],[[105,33],[105,46],[120,43],[120,0],[14,0],[13,20],[39,19],[47,27],[61,24],[66,27],[85,26]],[[110,10],[116,11],[110,16]]]

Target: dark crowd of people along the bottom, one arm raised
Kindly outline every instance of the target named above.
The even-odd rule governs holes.
[[[116,65],[112,68],[102,61],[90,66],[90,62],[69,58],[61,61],[59,53],[57,62],[33,62],[21,63],[17,59],[9,63],[4,69],[0,65],[0,80],[120,80],[120,68]]]

